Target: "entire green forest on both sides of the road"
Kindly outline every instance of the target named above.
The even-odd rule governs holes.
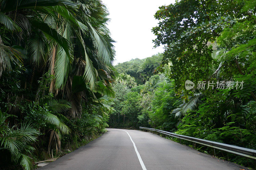
[[[0,0],[0,166],[32,169],[108,126],[256,149],[255,0],[161,6],[163,54],[115,66],[107,16],[98,0]]]

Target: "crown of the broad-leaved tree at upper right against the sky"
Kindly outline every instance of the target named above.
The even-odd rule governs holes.
[[[193,82],[208,80],[212,74],[210,68],[219,62],[212,58],[212,50],[216,50],[211,46],[213,41],[217,41],[218,48],[225,51],[220,53],[225,75],[238,73],[237,66],[231,65],[235,60],[244,64],[245,58],[252,57],[250,54],[255,48],[255,18],[252,13],[255,7],[249,7],[248,3],[182,0],[159,8],[155,18],[161,21],[152,29],[157,35],[155,45],[166,45],[159,71],[164,64],[172,62],[171,78],[175,80],[176,89],[184,90],[187,79]],[[229,12],[234,9],[234,13]]]

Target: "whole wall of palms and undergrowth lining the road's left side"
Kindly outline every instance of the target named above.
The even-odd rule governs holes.
[[[0,0],[0,166],[31,169],[99,136],[114,42],[98,0]]]

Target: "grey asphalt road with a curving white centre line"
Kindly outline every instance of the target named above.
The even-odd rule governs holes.
[[[239,170],[246,168],[212,158],[211,155],[149,132],[108,129],[108,132],[101,137],[39,169]]]

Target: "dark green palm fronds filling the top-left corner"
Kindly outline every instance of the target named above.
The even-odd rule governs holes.
[[[77,4],[68,0],[0,0],[0,5],[0,23],[4,30],[0,35],[2,40],[0,41],[1,71],[5,68],[10,70],[12,62],[18,62],[17,60],[11,60],[13,59],[13,57],[10,57],[12,54],[19,61],[21,61],[21,58],[29,57],[32,64],[44,65],[48,59],[45,54],[47,54],[49,39],[57,43],[69,55],[70,47],[67,39],[60,36],[56,29],[50,27],[46,23],[46,18],[43,17],[51,16],[56,19],[57,15],[54,12],[57,13],[64,6],[66,9],[74,9]],[[52,7],[45,5],[51,5]],[[54,8],[54,6],[60,8]],[[11,39],[11,42],[3,41],[6,39]],[[27,49],[28,56],[18,53],[25,49]]]

